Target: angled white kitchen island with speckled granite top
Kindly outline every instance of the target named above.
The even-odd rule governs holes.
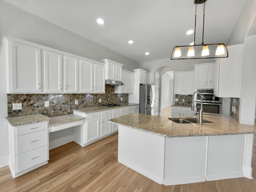
[[[118,161],[164,185],[252,178],[254,126],[229,116],[204,119],[211,123],[179,124],[144,114],[111,119],[119,127]]]

